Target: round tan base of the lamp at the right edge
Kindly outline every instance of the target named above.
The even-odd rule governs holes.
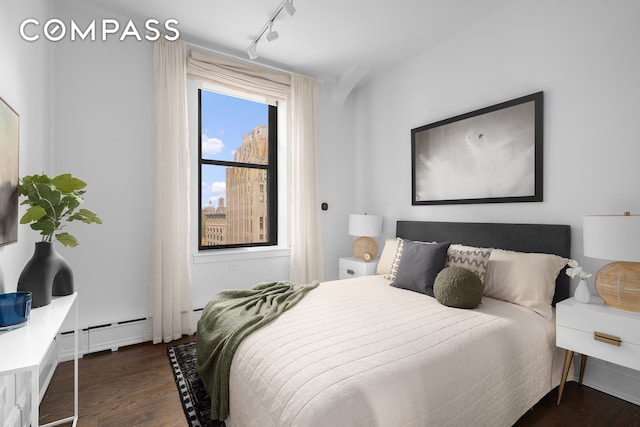
[[[596,274],[598,296],[610,307],[640,312],[640,263],[612,262]]]

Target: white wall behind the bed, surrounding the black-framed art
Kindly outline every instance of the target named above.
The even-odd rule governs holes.
[[[388,236],[398,219],[569,224],[573,257],[597,271],[605,261],[583,256],[582,216],[640,213],[639,18],[635,0],[517,1],[370,79],[352,94],[355,143],[368,147],[355,193]],[[412,128],[538,91],[543,202],[411,206]]]

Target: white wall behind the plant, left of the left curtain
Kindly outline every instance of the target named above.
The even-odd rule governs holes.
[[[58,4],[82,28],[104,13]],[[111,17],[111,16],[110,16]],[[102,225],[71,224],[80,246],[58,251],[74,272],[80,325],[146,316],[153,218],[153,45],[55,43],[54,172],[88,183]]]

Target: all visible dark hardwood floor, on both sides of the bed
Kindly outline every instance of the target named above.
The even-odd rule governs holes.
[[[170,345],[193,339],[185,337]],[[145,343],[80,359],[78,426],[187,426],[166,348],[167,344]],[[556,399],[557,389],[528,411],[516,426],[640,427],[640,406],[575,382],[565,387],[560,406],[556,406]],[[73,363],[65,362],[58,366],[40,405],[40,423],[71,414]]]

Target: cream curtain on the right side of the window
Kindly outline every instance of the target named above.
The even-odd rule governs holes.
[[[324,279],[322,221],[318,189],[318,82],[291,76],[291,156],[289,165],[289,280]]]

